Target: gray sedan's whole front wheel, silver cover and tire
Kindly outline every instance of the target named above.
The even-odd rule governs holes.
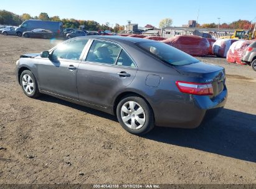
[[[37,98],[40,95],[36,78],[31,71],[22,71],[20,82],[23,92],[30,98]]]

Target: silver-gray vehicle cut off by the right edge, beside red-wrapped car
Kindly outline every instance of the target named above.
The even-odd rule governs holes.
[[[254,71],[256,71],[256,42],[253,42],[245,48],[242,62],[247,63]]]

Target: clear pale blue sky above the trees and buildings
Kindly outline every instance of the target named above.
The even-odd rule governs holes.
[[[110,22],[110,26],[116,23],[126,25],[127,21],[144,27],[151,24],[156,27],[164,18],[173,19],[173,26],[182,26],[189,20],[197,20],[198,23],[229,24],[239,19],[255,21],[256,1],[247,0],[245,3],[234,0],[8,0],[1,1],[0,10],[14,12],[15,14],[28,13],[31,16],[39,16],[40,12],[47,12],[49,16],[73,18],[80,20],[93,20],[100,24]]]

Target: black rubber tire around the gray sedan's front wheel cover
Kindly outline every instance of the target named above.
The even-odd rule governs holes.
[[[33,91],[31,94],[27,93],[27,91],[24,89],[25,87],[22,85],[22,78],[24,75],[29,75],[31,77],[32,82],[34,83]],[[38,85],[37,85],[37,80],[31,71],[29,71],[29,70],[22,71],[21,77],[20,77],[20,84],[21,84],[21,88],[22,88],[22,91],[24,92],[24,94],[26,94],[30,98],[37,98],[40,96]]]

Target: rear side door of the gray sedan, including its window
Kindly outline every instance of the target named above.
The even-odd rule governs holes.
[[[78,97],[108,108],[113,96],[133,81],[137,67],[120,45],[105,40],[90,43],[77,70]]]

